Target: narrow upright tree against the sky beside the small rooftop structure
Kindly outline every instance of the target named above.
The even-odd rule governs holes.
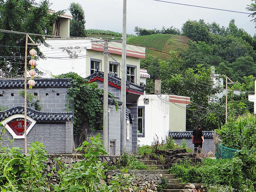
[[[85,37],[85,12],[79,3],[71,3],[69,10],[72,15],[70,20],[70,36],[73,37]]]

